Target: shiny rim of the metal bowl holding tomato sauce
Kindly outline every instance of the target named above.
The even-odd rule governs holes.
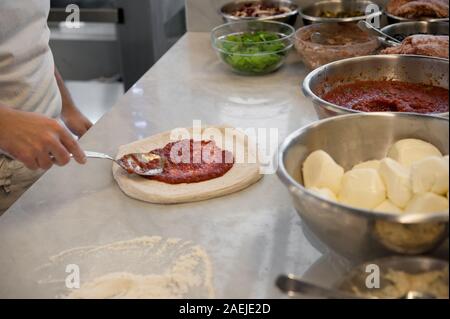
[[[351,61],[358,61],[360,60],[361,62],[367,61],[367,60],[371,60],[371,59],[410,59],[410,58],[414,58],[414,59],[429,59],[429,60],[436,60],[436,61],[443,61],[443,62],[447,62],[447,64],[449,63],[449,60],[447,59],[443,59],[443,58],[437,58],[437,57],[428,57],[428,56],[422,56],[422,55],[402,55],[402,54],[385,54],[385,55],[367,55],[367,56],[360,56],[360,57],[353,57],[353,58],[348,58],[348,59],[344,59],[344,60],[339,60],[339,61],[334,61],[328,64],[325,64],[321,67],[318,67],[317,69],[311,71],[306,78],[303,81],[302,84],[302,91],[303,94],[308,97],[311,98],[313,100],[313,102],[316,103],[320,103],[322,104],[322,106],[326,106],[326,108],[329,108],[333,111],[339,110],[339,111],[344,111],[345,113],[374,113],[374,112],[363,112],[363,111],[357,111],[357,110],[352,110],[352,109],[348,109],[346,107],[343,106],[339,106],[337,104],[333,104],[330,103],[324,99],[322,99],[320,96],[317,96],[311,89],[310,87],[310,83],[311,80],[314,76],[316,76],[317,74],[319,74],[320,72],[322,72],[324,69],[326,69],[327,67],[330,66],[334,66],[337,64],[343,64],[346,62],[351,62]],[[447,67],[448,69],[448,67]],[[375,112],[376,113],[376,112]],[[405,114],[406,112],[398,112],[398,113],[403,113]],[[413,114],[419,114],[421,116],[436,116],[436,117],[448,117],[449,116],[449,112],[444,112],[444,113],[426,113],[426,114],[421,114],[421,113],[413,113]]]

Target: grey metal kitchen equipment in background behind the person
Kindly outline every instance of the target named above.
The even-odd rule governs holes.
[[[128,90],[184,33],[183,0],[52,0],[51,47],[66,80],[122,79]],[[81,28],[64,22],[80,7]]]

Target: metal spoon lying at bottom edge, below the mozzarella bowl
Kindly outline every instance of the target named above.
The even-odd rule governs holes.
[[[324,288],[316,284],[309,283],[294,277],[293,275],[281,275],[276,281],[277,287],[289,296],[309,295],[315,297],[331,299],[378,299],[376,297],[361,297],[352,293],[339,291],[335,289]],[[435,299],[435,296],[418,292],[409,291],[406,295],[398,299]]]

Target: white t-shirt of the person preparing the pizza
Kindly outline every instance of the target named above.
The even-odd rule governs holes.
[[[56,118],[61,95],[49,11],[50,0],[0,0],[0,104]]]

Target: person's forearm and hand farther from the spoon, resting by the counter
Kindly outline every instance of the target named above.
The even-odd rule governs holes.
[[[78,137],[83,136],[92,126],[92,123],[78,110],[67,90],[64,80],[55,66],[55,78],[62,98],[61,119],[67,128]]]

